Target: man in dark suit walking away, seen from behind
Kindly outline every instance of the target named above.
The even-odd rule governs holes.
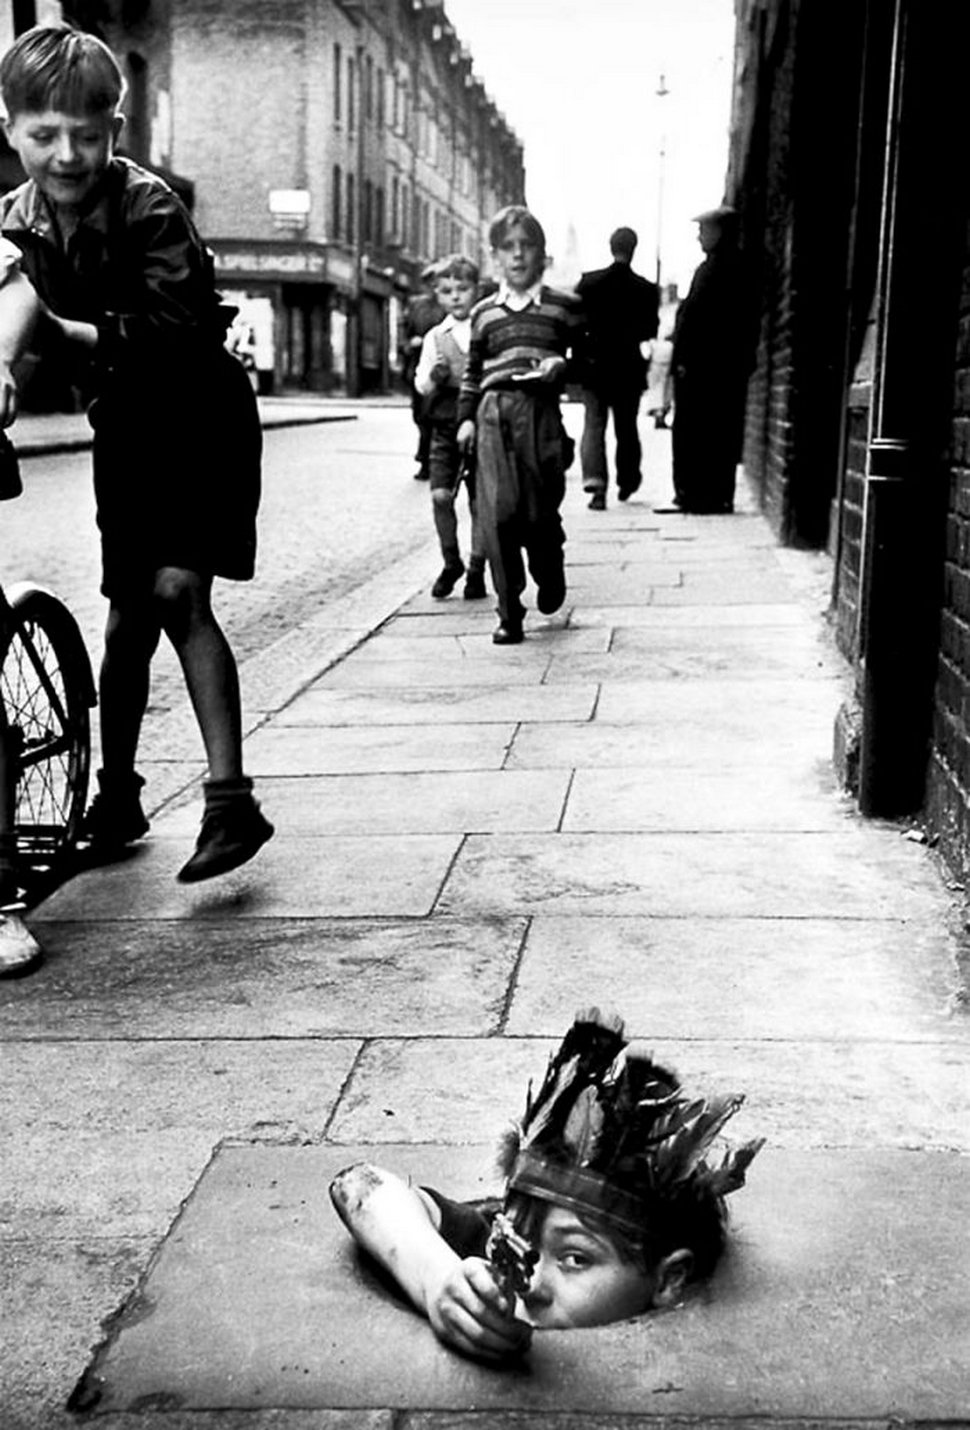
[[[609,267],[584,273],[577,286],[587,320],[581,362],[585,422],[579,456],[582,488],[591,493],[594,512],[607,505],[607,418],[611,412],[619,500],[625,502],[642,480],[637,413],[648,363],[641,343],[657,336],[660,295],[654,283],[634,273],[635,249],[634,230],[617,229],[609,237]]]

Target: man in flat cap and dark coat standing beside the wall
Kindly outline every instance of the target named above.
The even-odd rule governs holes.
[[[677,312],[671,355],[674,505],[733,512],[758,312],[737,212],[710,209],[695,223],[704,262]]]

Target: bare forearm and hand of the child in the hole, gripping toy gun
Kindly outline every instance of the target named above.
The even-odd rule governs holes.
[[[455,1350],[501,1360],[524,1350],[531,1327],[515,1318],[488,1263],[461,1257],[438,1231],[438,1207],[401,1177],[358,1163],[330,1184],[351,1236],[391,1273],[435,1334]]]

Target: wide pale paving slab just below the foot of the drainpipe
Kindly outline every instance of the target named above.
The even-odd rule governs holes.
[[[926,849],[846,834],[471,835],[438,912],[936,919]]]

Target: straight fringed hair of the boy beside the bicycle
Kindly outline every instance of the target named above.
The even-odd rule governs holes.
[[[124,79],[109,47],[70,24],[37,24],[14,40],[0,60],[0,97],[9,119],[59,110],[113,114]]]

